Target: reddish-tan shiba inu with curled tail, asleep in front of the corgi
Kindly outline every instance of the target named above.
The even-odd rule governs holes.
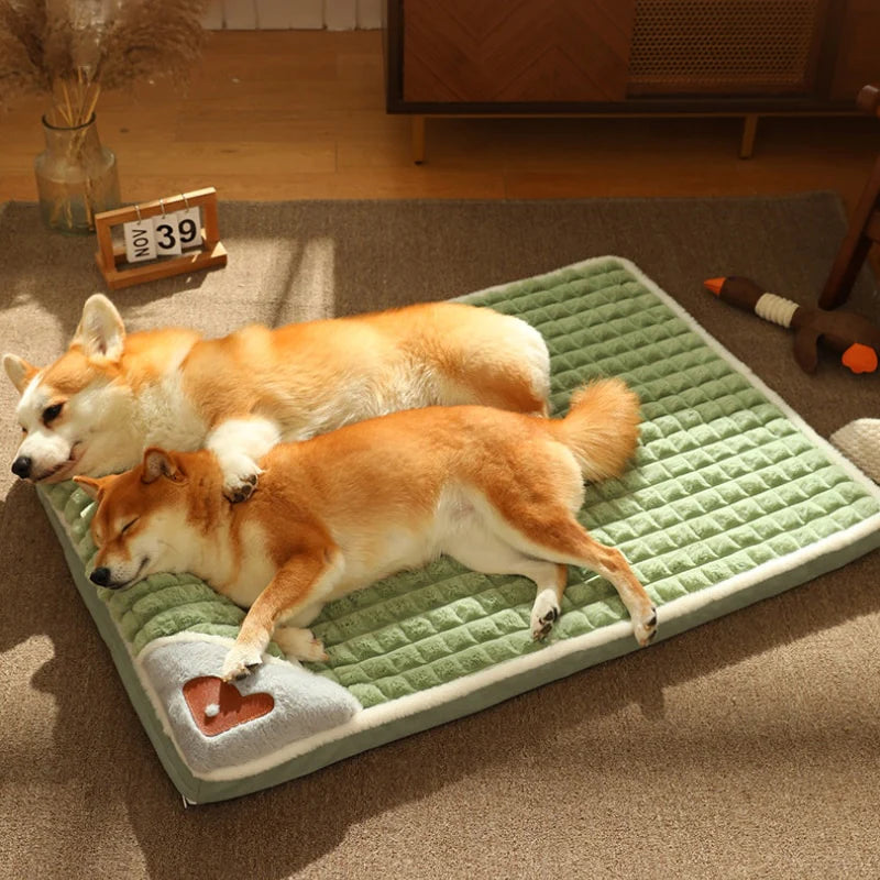
[[[256,492],[230,505],[209,450],[148,449],[131,471],[77,482],[99,501],[96,584],[191,572],[250,610],[222,674],[248,673],[274,637],[288,657],[323,658],[305,627],[324,603],[447,553],[537,584],[531,635],[560,614],[566,565],[614,584],[639,645],[657,613],[623,554],[574,518],[584,477],[620,473],[639,404],[619,380],[586,386],[564,419],[488,407],[429,407],[276,446]]]

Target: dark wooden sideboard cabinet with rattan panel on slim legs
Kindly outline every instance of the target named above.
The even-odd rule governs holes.
[[[855,113],[880,0],[385,0],[386,107],[450,116]]]

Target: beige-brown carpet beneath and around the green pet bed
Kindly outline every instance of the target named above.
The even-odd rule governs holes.
[[[208,333],[458,296],[602,254],[635,261],[824,436],[880,376],[703,293],[750,275],[815,300],[833,196],[224,204],[222,271],[114,296]],[[101,289],[91,240],[0,216],[0,348],[57,354]],[[880,317],[862,277],[854,306]],[[875,878],[880,554],[622,660],[249,798],[184,810],[34,491],[0,384],[0,877]]]

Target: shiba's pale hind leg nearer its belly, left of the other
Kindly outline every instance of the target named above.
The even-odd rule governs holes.
[[[479,526],[458,535],[443,552],[482,574],[519,574],[535,581],[538,594],[531,608],[531,637],[538,640],[550,634],[561,614],[568,566],[526,556]]]

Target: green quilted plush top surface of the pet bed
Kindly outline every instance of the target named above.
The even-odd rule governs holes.
[[[592,260],[465,299],[517,315],[543,334],[554,415],[594,377],[622,376],[638,393],[644,425],[636,459],[622,479],[587,487],[580,518],[630,561],[660,608],[660,638],[880,544],[876,487],[707,341],[632,264]],[[88,530],[92,504],[73,483],[50,488],[46,497],[79,559],[81,571],[74,573],[82,588],[80,575],[95,553]],[[756,583],[782,575],[782,585],[755,592]],[[726,605],[716,600],[737,590],[752,592]],[[135,662],[156,639],[177,634],[233,638],[244,615],[189,575],[155,575],[123,592],[97,594]],[[488,680],[481,685],[485,696],[446,719],[535,686],[492,693],[505,670],[521,673],[524,658],[534,670],[544,658],[558,658],[565,642],[579,646],[576,661],[559,676],[636,649],[629,635],[628,647],[616,653],[594,652],[605,631],[624,644],[620,622],[627,615],[614,588],[593,572],[570,569],[549,645],[529,636],[534,597],[530,581],[476,574],[440,559],[328,605],[312,628],[330,659],[308,668],[346,689],[374,717],[380,710],[399,717],[406,713],[395,715],[396,706],[414,703],[407,698],[433,705],[441,700],[435,695],[450,693],[450,685],[481,675]],[[664,627],[672,618],[676,625]],[[279,654],[274,646],[272,651]],[[438,717],[376,743],[439,723]],[[322,762],[339,757],[344,754]],[[309,769],[317,768],[288,765],[261,785]]]

